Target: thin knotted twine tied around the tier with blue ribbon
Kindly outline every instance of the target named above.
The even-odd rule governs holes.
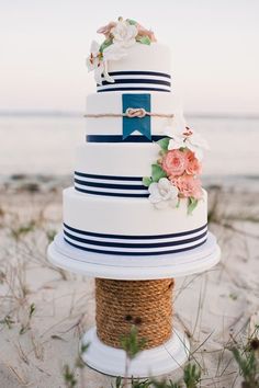
[[[174,115],[173,113],[151,113],[147,112],[144,107],[128,107],[124,113],[97,113],[97,114],[86,114],[85,117],[89,118],[103,118],[103,117],[138,117],[143,118],[145,116],[150,117],[165,117],[165,118],[172,118]]]

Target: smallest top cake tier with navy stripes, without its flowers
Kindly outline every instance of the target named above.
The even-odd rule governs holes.
[[[114,82],[102,76],[98,92],[109,91],[171,91],[171,58],[166,45],[136,43],[125,49],[120,60],[108,60],[108,71]]]

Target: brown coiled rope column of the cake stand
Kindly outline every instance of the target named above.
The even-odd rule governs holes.
[[[171,278],[112,281],[95,278],[97,334],[106,345],[121,349],[121,339],[137,327],[144,349],[159,346],[172,333]]]

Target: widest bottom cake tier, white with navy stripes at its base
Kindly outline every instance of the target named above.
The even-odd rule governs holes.
[[[64,191],[64,238],[89,252],[157,255],[194,249],[207,238],[207,195],[191,215],[187,201],[157,209],[147,198],[114,198]]]

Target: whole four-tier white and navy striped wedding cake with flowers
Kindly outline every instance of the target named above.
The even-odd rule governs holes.
[[[173,95],[170,49],[136,21],[101,27],[87,65],[86,142],[64,191],[64,239],[110,255],[161,255],[202,246],[207,195],[205,140],[187,127]]]

